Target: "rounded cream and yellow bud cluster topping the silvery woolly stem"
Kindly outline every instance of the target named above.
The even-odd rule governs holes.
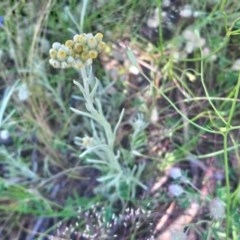
[[[67,40],[65,44],[55,42],[49,50],[49,63],[54,68],[73,67],[81,69],[92,64],[92,60],[97,58],[106,44],[102,41],[103,35],[97,33],[76,34],[72,40]]]

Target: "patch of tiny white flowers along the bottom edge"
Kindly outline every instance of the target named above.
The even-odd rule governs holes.
[[[50,235],[48,240],[127,239],[125,234],[129,231],[134,230],[135,236],[139,236],[143,234],[143,228],[144,239],[156,239],[151,210],[126,208],[120,214],[110,213],[109,210],[99,204],[92,205],[88,210],[80,208],[76,218],[71,218],[67,223],[59,222],[53,232],[55,236]]]

